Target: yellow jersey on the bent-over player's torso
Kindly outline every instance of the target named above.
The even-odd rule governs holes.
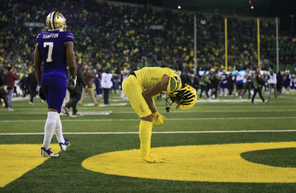
[[[172,70],[171,68],[144,67],[134,72],[136,74],[137,80],[145,89],[150,88],[154,84],[160,82],[163,75],[170,77],[167,91],[163,92],[174,92],[182,87],[180,76],[175,70]]]

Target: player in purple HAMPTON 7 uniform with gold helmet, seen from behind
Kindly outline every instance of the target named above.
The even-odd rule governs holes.
[[[49,145],[53,133],[59,142],[60,149],[66,150],[69,140],[64,139],[60,120],[61,106],[66,96],[67,60],[71,78],[69,88],[76,84],[77,64],[73,51],[74,36],[67,28],[66,18],[58,11],[52,11],[46,18],[48,32],[41,32],[36,38],[34,51],[34,68],[38,83],[38,95],[48,104],[47,120],[44,127],[44,141],[41,147],[41,157],[57,157],[59,154],[51,152]],[[41,63],[44,70],[41,74]]]

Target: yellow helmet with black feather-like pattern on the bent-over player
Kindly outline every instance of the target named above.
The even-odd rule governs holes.
[[[168,99],[170,99],[170,102]],[[196,90],[192,86],[185,84],[181,89],[168,94],[168,97],[166,98],[166,105],[169,104],[169,106],[173,106],[176,109],[186,110],[193,107],[196,100]],[[169,112],[169,109],[170,108],[167,106],[167,112]]]

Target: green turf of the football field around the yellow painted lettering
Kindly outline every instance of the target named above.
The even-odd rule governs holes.
[[[84,116],[61,116],[64,138],[69,139],[71,144],[67,151],[60,152],[57,158],[43,160],[42,164],[34,166],[21,177],[4,187],[0,186],[0,192],[296,192],[296,183],[285,183],[285,175],[282,183],[215,182],[215,180],[201,182],[110,175],[85,169],[81,163],[91,156],[139,149],[138,116],[133,112],[129,101],[121,101],[116,94],[111,94],[111,99],[113,100],[110,101],[111,104],[122,106],[83,106],[78,108],[78,111],[86,113]],[[220,97],[220,99],[231,99],[231,97]],[[158,133],[152,134],[151,147],[295,142],[295,99],[296,95],[282,95],[278,99],[272,97],[266,105],[260,101],[254,105],[249,102],[197,102],[190,110],[171,109],[170,113],[165,113],[165,102],[162,99],[156,101],[156,106],[167,120],[162,125],[154,125],[153,132]],[[91,103],[89,97],[84,100],[84,104],[88,103]],[[5,108],[0,109],[0,144],[42,144],[47,105],[42,105],[39,99],[35,99],[35,106],[29,105],[28,100],[13,101],[12,104],[14,112],[6,113]],[[269,132],[264,132],[267,130]],[[272,132],[272,130],[292,131]],[[217,133],[218,131],[228,132]],[[86,132],[86,134],[77,134],[77,132]],[[13,133],[18,134],[12,135]],[[54,136],[51,147],[58,147],[57,144]],[[1,151],[3,149],[0,145],[0,154]],[[23,149],[14,159],[26,157],[26,152],[27,150]],[[185,158],[182,153],[179,152],[177,157],[185,163],[184,165],[187,162],[198,164],[198,160],[195,162],[193,158],[188,156]],[[192,154],[198,156],[198,152]],[[35,156],[39,158],[39,153]],[[240,156],[246,162],[260,164],[262,167],[285,168],[289,170],[289,175],[296,175],[296,146],[248,151],[241,153]],[[2,158],[3,156],[0,163],[4,160]],[[14,159],[10,161],[14,162]],[[110,160],[110,162],[115,164],[117,161]],[[176,165],[170,162],[173,160],[167,157],[164,163],[160,163],[162,165],[145,163],[141,169],[153,170],[156,166],[174,169]],[[18,167],[21,166],[15,166],[11,170],[18,170]],[[9,177],[10,173],[1,175],[2,178]],[[176,175],[179,173],[176,172]],[[157,176],[157,173],[154,176]],[[276,179],[277,176],[270,178]],[[288,182],[290,176],[287,175],[286,178]]]

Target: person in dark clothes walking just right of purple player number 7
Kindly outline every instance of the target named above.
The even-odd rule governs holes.
[[[73,89],[68,89],[70,92],[70,98],[71,100],[68,102],[68,104],[64,107],[64,110],[66,114],[69,116],[69,108],[72,107],[74,116],[79,116],[80,114],[77,114],[76,105],[78,101],[81,98],[81,84],[84,88],[88,88],[86,85],[83,75],[82,75],[82,62],[80,56],[75,57],[76,63],[77,63],[77,80],[76,80],[76,86]]]

